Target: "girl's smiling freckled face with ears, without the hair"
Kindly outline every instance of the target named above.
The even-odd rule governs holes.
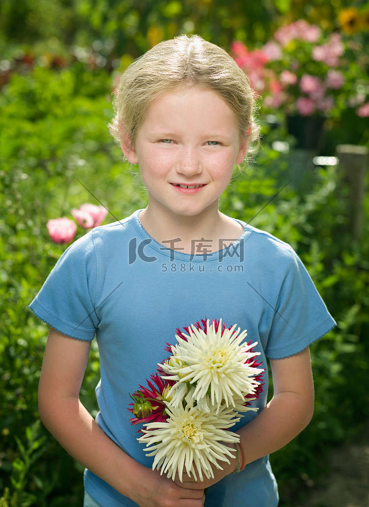
[[[244,159],[246,139],[240,140],[233,111],[215,92],[183,87],[154,100],[134,146],[122,148],[139,164],[149,212],[196,216],[217,212],[234,165]]]

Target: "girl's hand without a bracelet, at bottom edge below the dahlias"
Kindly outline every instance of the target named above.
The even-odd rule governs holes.
[[[140,507],[203,507],[205,494],[203,486],[177,485],[158,470],[147,469],[132,499]]]

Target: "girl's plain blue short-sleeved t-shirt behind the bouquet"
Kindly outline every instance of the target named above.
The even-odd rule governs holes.
[[[253,402],[260,411],[267,400],[266,357],[297,354],[335,325],[292,248],[240,223],[240,238],[224,238],[218,245],[194,238],[190,255],[173,250],[178,238],[167,238],[165,246],[152,239],[136,211],[69,246],[30,305],[64,335],[79,340],[96,335],[101,369],[96,421],[145,466],[151,467],[153,457],[145,456],[144,446],[137,442],[137,426],[130,425],[129,393],[144,385],[167,357],[164,348],[167,342],[175,343],[176,328],[222,318],[226,327],[246,329],[246,340],[257,341],[258,362],[265,368],[264,391]],[[210,247],[216,251],[207,253]],[[232,429],[256,416],[257,412],[246,412]],[[137,506],[89,470],[85,487],[103,507]],[[211,486],[205,505],[277,503],[277,485],[266,456]]]

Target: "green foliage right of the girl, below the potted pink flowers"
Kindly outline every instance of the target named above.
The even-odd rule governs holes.
[[[292,179],[288,156],[276,154],[267,132],[255,165],[235,177],[222,211],[288,242],[298,252],[337,327],[311,346],[315,413],[309,426],[272,454],[283,507],[297,500],[325,471],[332,445],[355,438],[369,416],[369,241],[366,220],[360,243],[352,239],[352,203],[339,166]],[[284,187],[284,188],[283,188]],[[267,205],[265,204],[279,194]],[[368,201],[365,200],[366,217]],[[264,207],[265,206],[265,207]]]

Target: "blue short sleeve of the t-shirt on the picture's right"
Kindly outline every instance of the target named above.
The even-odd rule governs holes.
[[[280,287],[266,348],[270,359],[301,352],[336,325],[305,266],[289,249],[291,265]]]

